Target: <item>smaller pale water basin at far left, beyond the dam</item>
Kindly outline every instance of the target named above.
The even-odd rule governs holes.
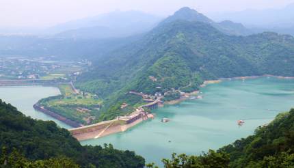
[[[50,115],[46,115],[33,108],[33,105],[42,98],[60,94],[57,87],[23,86],[23,87],[0,87],[0,98],[27,116],[39,120],[52,120],[63,128],[71,128],[63,122],[59,122]]]

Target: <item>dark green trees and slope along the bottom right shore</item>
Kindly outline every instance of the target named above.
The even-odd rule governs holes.
[[[255,135],[235,141],[200,156],[172,154],[163,159],[166,168],[286,168],[294,167],[294,109],[280,113],[268,126],[260,126]],[[156,167],[154,163],[146,167]]]

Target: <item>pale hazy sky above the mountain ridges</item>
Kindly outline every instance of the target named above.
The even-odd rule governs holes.
[[[289,3],[294,0],[0,0],[0,27],[49,27],[114,10],[168,16],[183,6],[205,14],[282,8]]]

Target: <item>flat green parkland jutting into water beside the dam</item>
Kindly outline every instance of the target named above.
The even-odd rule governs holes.
[[[38,104],[74,122],[92,124],[98,117],[102,100],[90,93],[75,94],[68,84],[59,85],[60,96],[39,100]]]

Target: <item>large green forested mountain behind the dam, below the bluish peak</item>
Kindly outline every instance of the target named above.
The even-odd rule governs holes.
[[[76,84],[105,98],[101,120],[107,120],[121,114],[120,103],[138,102],[128,99],[130,90],[191,92],[206,79],[293,76],[293,64],[292,36],[270,32],[229,36],[203,22],[163,20],[137,42],[99,59]]]

